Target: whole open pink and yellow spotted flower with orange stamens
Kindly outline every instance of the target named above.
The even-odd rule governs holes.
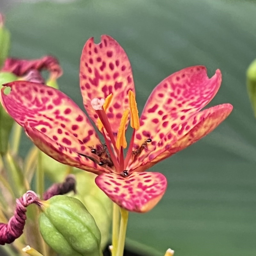
[[[80,87],[91,122],[64,93],[43,84],[16,81],[1,93],[6,111],[24,127],[35,145],[55,160],[98,174],[96,184],[128,211],[147,212],[162,198],[163,174],[145,172],[188,147],[231,112],[230,104],[204,108],[217,93],[220,70],[208,78],[206,68],[182,69],[156,86],[139,119],[132,69],[122,47],[110,36],[100,44],[90,38],[83,49]],[[134,129],[126,156],[125,130]]]

